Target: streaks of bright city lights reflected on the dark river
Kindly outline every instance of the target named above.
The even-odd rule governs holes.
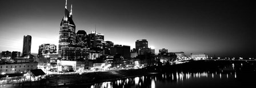
[[[109,87],[157,87],[158,83],[165,83],[171,82],[176,83],[177,85],[179,82],[190,82],[190,79],[202,79],[202,78],[210,78],[216,79],[214,77],[219,77],[218,79],[230,79],[236,78],[236,73],[234,74],[214,74],[209,72],[198,72],[198,73],[183,73],[183,72],[176,72],[176,76],[173,75],[174,73],[166,73],[166,74],[158,74],[154,76],[141,76],[141,77],[134,77],[134,78],[126,78],[126,79],[118,79],[117,81],[113,82],[102,82],[102,83],[95,83],[91,85],[91,88],[95,87],[102,87],[102,88],[109,88]],[[224,77],[223,77],[224,76]],[[159,87],[159,85],[158,85]]]

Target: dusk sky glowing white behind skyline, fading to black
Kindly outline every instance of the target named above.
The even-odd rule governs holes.
[[[169,52],[210,57],[255,57],[255,1],[109,0],[67,1],[76,31],[96,29],[105,40],[130,45],[146,39]],[[31,53],[41,44],[58,46],[65,0],[0,0],[0,51],[22,52],[31,35]]]

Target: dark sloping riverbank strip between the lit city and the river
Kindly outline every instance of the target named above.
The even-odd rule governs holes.
[[[234,65],[233,65],[234,64]],[[242,66],[241,66],[242,65]],[[238,68],[239,67],[239,68]],[[250,70],[249,70],[250,69]],[[252,69],[252,70],[251,70]],[[154,74],[168,73],[228,73],[243,76],[255,73],[255,62],[249,61],[190,61],[183,64],[150,66],[143,69],[109,70],[105,72],[91,72],[82,74],[55,74],[38,82],[23,83],[23,87],[83,87],[95,83],[117,81],[139,76],[151,76]],[[238,78],[239,79],[239,78]],[[244,79],[242,79],[244,81]],[[6,87],[19,87],[20,84],[9,84]]]

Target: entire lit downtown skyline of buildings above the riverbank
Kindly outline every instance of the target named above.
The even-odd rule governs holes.
[[[159,54],[155,55],[155,49],[148,47],[146,39],[135,41],[135,48],[130,49],[128,45],[114,45],[112,41],[105,41],[104,37],[96,29],[90,33],[85,30],[76,32],[72,5],[69,11],[66,2],[60,23],[58,46],[41,44],[38,47],[38,55],[35,57],[31,55],[32,37],[26,35],[23,37],[22,55],[21,52],[15,51],[1,53],[1,64],[8,65],[1,65],[1,72],[21,73],[42,69],[45,73],[58,73],[142,68],[143,66],[159,65],[159,62],[165,64],[167,61],[186,58],[184,52],[168,52],[165,48],[160,49]],[[191,54],[191,56],[193,56],[191,58],[202,57],[200,54]],[[205,54],[205,56],[207,55]]]

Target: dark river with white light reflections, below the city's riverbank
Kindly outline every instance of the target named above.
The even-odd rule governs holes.
[[[87,87],[255,87],[255,61],[211,62],[210,69],[173,70],[148,76],[118,79],[110,82],[95,83]],[[217,63],[217,64],[216,64]],[[193,64],[189,64],[193,65]],[[198,65],[198,64],[197,64]],[[200,64],[199,64],[200,65]],[[208,66],[208,65],[205,65]],[[202,66],[205,68],[205,66]],[[213,67],[218,68],[217,70]],[[197,66],[198,67],[198,66]],[[184,66],[183,68],[190,68]],[[214,70],[213,70],[214,69]],[[168,70],[168,69],[165,69]]]

